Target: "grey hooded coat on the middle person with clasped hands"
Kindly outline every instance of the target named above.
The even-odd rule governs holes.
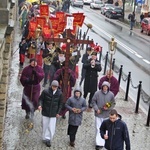
[[[81,93],[81,90],[79,88],[75,89],[74,93],[76,91],[80,91],[80,93]],[[82,95],[82,93],[81,93],[81,95]],[[86,108],[87,108],[86,100],[84,98],[82,98],[81,96],[79,98],[76,98],[76,96],[74,95],[74,96],[70,97],[67,100],[65,106],[69,110],[69,120],[68,120],[68,123],[70,125],[73,125],[73,126],[79,126],[79,125],[81,125],[83,111],[86,110]],[[80,113],[74,113],[72,111],[72,108],[81,109],[81,112]]]

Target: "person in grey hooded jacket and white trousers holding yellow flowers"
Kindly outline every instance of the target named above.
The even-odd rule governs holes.
[[[100,126],[115,106],[114,94],[109,89],[109,82],[104,81],[101,90],[96,91],[92,98],[92,106],[95,111],[96,150],[100,150],[104,146],[104,139],[100,137]]]

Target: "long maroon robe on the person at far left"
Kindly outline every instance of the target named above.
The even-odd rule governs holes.
[[[33,74],[33,70],[36,71],[36,74]],[[31,65],[26,66],[21,74],[20,82],[23,89],[23,95],[29,99],[34,105],[34,110],[38,108],[38,99],[40,96],[40,82],[44,78],[43,69],[40,66],[32,67]],[[31,96],[32,95],[32,96]],[[31,99],[32,97],[32,99]],[[24,96],[22,97],[22,109],[30,111],[29,105],[26,103]]]

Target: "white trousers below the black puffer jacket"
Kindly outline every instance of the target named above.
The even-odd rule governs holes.
[[[43,133],[42,138],[43,140],[52,140],[55,128],[56,128],[56,117],[45,117],[42,116],[42,126],[43,126]]]

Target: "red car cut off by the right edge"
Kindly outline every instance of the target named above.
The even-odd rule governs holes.
[[[145,31],[150,36],[150,18],[144,18],[141,22],[141,32]]]

